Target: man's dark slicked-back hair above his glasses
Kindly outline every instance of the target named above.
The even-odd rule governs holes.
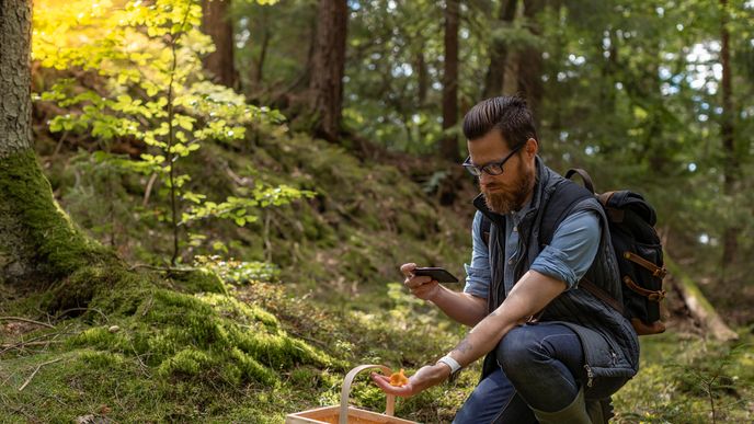
[[[481,138],[493,129],[500,131],[510,149],[529,138],[539,141],[526,100],[518,96],[483,100],[464,117],[464,135],[469,140]]]

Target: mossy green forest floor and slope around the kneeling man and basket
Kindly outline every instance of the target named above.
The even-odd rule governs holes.
[[[38,147],[42,163],[75,221],[130,263],[159,264],[170,245],[164,222],[129,206],[146,204],[145,181],[73,149],[52,160],[50,146]],[[193,261],[183,270],[134,270],[136,278],[80,310],[50,312],[46,293],[0,285],[0,423],[282,423],[336,404],[356,365],[411,374],[460,340],[466,330],[407,294],[397,271],[411,259],[462,275],[470,209],[438,206],[433,174],[304,136],[261,142],[253,154],[199,152],[186,164],[204,184],[195,190],[221,193],[263,179],[240,170],[264,168],[287,175],[267,183],[318,196],[260,211],[263,219],[244,228],[195,229],[206,239],[185,248]],[[107,191],[114,177],[125,188]],[[464,188],[472,197],[472,186]],[[225,259],[212,255],[217,241]],[[614,422],[754,422],[752,329],[721,344],[682,328],[641,337],[641,370],[614,397]],[[399,400],[396,414],[450,422],[478,370]],[[352,403],[380,410],[385,398],[365,375]]]

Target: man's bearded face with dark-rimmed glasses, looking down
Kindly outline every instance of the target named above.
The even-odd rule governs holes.
[[[491,162],[499,162],[510,152],[500,131],[491,130],[483,137],[468,141],[471,163],[483,167]],[[498,214],[519,210],[528,200],[534,190],[536,172],[535,156],[537,142],[529,139],[526,145],[514,153],[503,165],[503,173],[490,175],[482,172],[479,176],[479,188],[484,194],[487,207]]]

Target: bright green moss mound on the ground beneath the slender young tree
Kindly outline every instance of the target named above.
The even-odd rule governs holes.
[[[233,386],[272,385],[278,370],[299,364],[335,364],[288,336],[277,319],[258,306],[221,294],[190,295],[156,287],[142,293],[148,297],[135,313],[121,318],[125,321],[118,332],[91,328],[69,345],[138,355],[162,377],[207,381],[219,376],[221,382]]]

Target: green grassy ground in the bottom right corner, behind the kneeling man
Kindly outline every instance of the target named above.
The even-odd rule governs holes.
[[[616,421],[752,422],[754,336],[744,329],[740,335],[732,344],[673,332],[641,337],[641,369],[614,397]]]

